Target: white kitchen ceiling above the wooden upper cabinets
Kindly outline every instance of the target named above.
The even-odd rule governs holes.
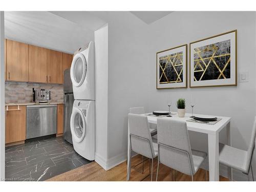
[[[67,53],[94,40],[92,28],[48,11],[5,12],[6,38]]]

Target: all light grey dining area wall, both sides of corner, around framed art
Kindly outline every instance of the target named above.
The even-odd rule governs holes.
[[[129,108],[167,110],[167,95],[173,98],[173,111],[177,98],[184,97],[188,102],[192,95],[196,113],[230,116],[232,146],[247,149],[256,109],[254,12],[174,12],[151,25],[130,12],[91,13],[109,24],[106,169],[126,160]],[[238,82],[237,87],[156,90],[156,52],[234,29],[238,30],[238,73],[248,71],[249,82]],[[189,106],[187,111],[191,111]],[[189,134],[194,148],[207,151],[206,135]],[[226,142],[225,130],[220,141]],[[256,168],[255,158],[253,161]],[[220,173],[225,176],[226,168],[221,166]],[[234,179],[245,178],[234,171]]]

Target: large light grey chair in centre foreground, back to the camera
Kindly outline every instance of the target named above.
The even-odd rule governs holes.
[[[197,173],[199,167],[204,162],[205,180],[207,180],[207,153],[191,150],[186,122],[172,118],[158,118],[157,132],[157,177],[159,163],[162,163],[183,174],[190,175],[193,181],[193,176]]]

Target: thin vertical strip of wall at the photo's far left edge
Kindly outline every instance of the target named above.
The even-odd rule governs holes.
[[[0,11],[0,181],[5,179],[5,25]]]

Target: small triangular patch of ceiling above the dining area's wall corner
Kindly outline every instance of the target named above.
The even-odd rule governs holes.
[[[130,11],[146,24],[152,24],[156,20],[172,13],[173,11]]]

